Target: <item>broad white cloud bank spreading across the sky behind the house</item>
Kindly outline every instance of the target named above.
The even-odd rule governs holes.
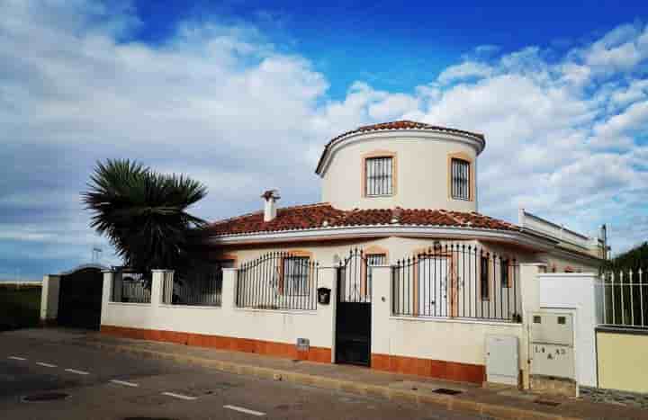
[[[129,39],[138,24],[127,2],[0,5],[5,255],[89,255],[96,238],[77,194],[96,159],[202,180],[209,195],[195,211],[216,219],[257,210],[269,187],[283,204],[318,201],[323,145],[400,118],[485,133],[482,212],[515,219],[521,205],[585,231],[617,224],[618,246],[638,239],[621,227],[648,196],[648,152],[634,137],[646,123],[643,28],[551,60],[538,47],[478,48],[410,94],[358,81],[333,101],[325,75],[253,26],[182,22],[147,45]]]

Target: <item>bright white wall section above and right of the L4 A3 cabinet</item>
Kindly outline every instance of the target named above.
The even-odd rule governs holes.
[[[576,381],[589,387],[597,386],[597,279],[596,273],[538,274],[540,308],[573,316]]]

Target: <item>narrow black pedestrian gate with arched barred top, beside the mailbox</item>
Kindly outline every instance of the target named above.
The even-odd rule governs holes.
[[[338,266],[338,363],[371,364],[371,288],[366,256],[355,249]]]

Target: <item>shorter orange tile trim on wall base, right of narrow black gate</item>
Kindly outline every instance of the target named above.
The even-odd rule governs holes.
[[[486,380],[486,367],[481,364],[435,361],[389,354],[372,353],[372,368],[377,371],[392,371],[478,384]]]

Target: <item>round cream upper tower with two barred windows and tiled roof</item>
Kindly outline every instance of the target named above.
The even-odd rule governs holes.
[[[341,210],[477,210],[482,134],[415,121],[348,131],[329,141],[316,173],[322,201]]]

